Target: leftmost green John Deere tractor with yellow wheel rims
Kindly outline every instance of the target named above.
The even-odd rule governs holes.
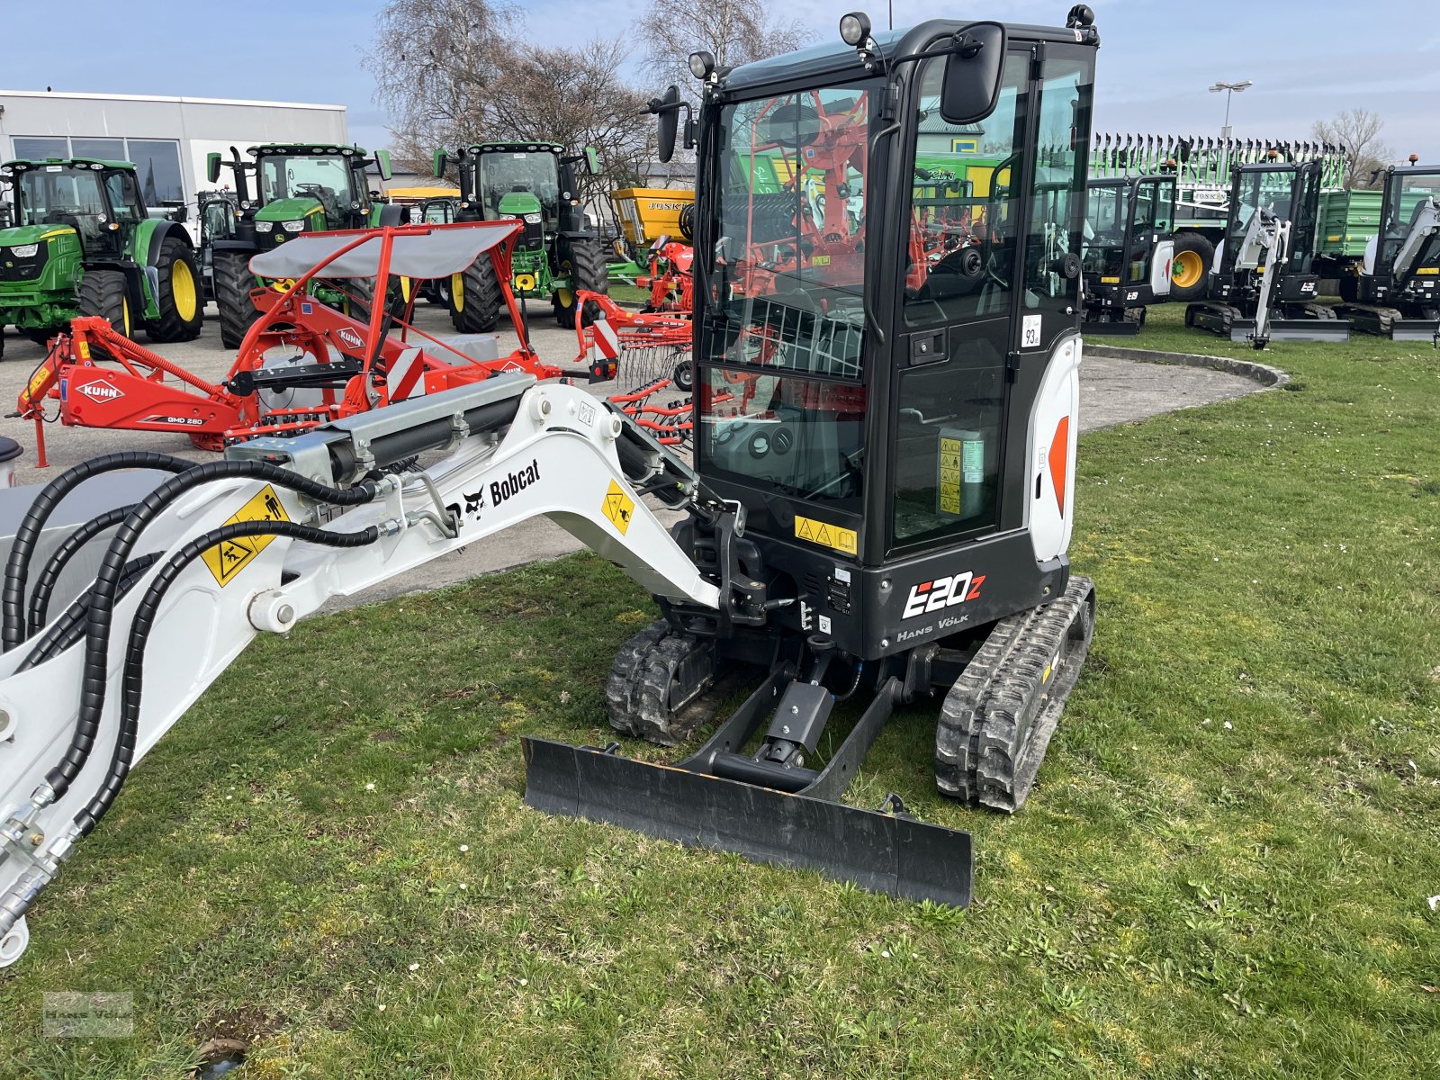
[[[7,161],[0,183],[0,327],[45,343],[76,315],[190,341],[203,301],[190,236],[151,217],[128,161]],[[3,340],[0,340],[3,343]]]

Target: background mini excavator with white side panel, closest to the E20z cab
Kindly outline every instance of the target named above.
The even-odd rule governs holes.
[[[1148,304],[1169,297],[1175,176],[1107,177],[1086,186],[1084,320],[1089,333],[1145,325]]]

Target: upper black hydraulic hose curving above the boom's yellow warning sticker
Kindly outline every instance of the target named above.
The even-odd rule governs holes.
[[[105,559],[101,562],[99,573],[95,575],[95,583],[91,586],[91,602],[85,621],[85,668],[79,714],[75,719],[69,747],[45,776],[49,792],[42,788],[40,796],[46,802],[53,802],[69,791],[71,783],[85,768],[95,744],[101,710],[105,707],[105,672],[109,664],[109,628],[115,609],[115,592],[124,575],[125,562],[140,540],[140,534],[173,500],[186,491],[219,480],[240,478],[264,480],[334,505],[360,505],[372,501],[379,491],[379,485],[372,481],[357,484],[353,488],[330,487],[264,461],[213,461],[187,468],[145,495],[115,531],[115,537],[105,552]],[[272,521],[271,524],[279,523]]]

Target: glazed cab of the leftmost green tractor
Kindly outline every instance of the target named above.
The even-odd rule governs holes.
[[[9,161],[3,171],[14,184],[14,226],[62,245],[65,233],[55,229],[68,229],[86,259],[124,258],[135,228],[150,217],[128,161]]]

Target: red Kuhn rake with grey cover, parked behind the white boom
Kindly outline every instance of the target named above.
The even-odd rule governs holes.
[[[495,336],[444,341],[379,307],[360,321],[307,288],[317,276],[336,284],[448,278],[477,258],[504,271],[517,232],[516,222],[482,222],[300,236],[251,261],[253,274],[294,285],[252,289],[248,300],[256,317],[223,382],[210,383],[127,341],[104,320],[79,318],[52,343],[20,395],[17,415],[35,420],[43,465],[50,400],[59,403],[59,419],[69,426],[176,432],[200,449],[219,451],[258,436],[295,435],[501,372],[557,377],[560,369],[540,363],[531,348],[508,292],[520,343],[501,356]]]

